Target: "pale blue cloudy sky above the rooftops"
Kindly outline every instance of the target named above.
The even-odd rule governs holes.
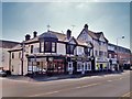
[[[48,24],[51,31],[66,33],[67,29],[70,29],[72,35],[77,37],[87,23],[90,31],[103,32],[113,44],[118,37],[124,35],[124,40],[119,38],[119,45],[130,47],[129,2],[8,1],[0,3],[2,40],[22,42],[25,34],[33,36],[33,31],[37,31],[38,35],[46,32]]]

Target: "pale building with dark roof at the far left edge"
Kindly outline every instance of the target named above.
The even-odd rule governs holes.
[[[19,44],[18,42],[13,42],[13,41],[4,41],[4,40],[0,40],[0,68],[4,69],[4,70],[9,70],[9,53],[8,51],[12,47],[14,47],[16,44]]]

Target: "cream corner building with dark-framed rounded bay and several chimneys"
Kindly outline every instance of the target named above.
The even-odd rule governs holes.
[[[91,70],[92,44],[66,34],[47,31],[25,35],[25,41],[9,51],[12,75],[76,74]]]

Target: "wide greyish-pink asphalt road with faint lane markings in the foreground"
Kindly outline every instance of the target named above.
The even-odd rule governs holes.
[[[2,97],[130,97],[130,70],[52,81],[2,78]]]

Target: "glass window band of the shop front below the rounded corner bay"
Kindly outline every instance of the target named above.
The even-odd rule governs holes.
[[[64,59],[54,59],[51,57],[45,58],[30,58],[28,72],[30,73],[38,73],[38,74],[46,74],[46,73],[64,73],[65,72],[65,63]]]

